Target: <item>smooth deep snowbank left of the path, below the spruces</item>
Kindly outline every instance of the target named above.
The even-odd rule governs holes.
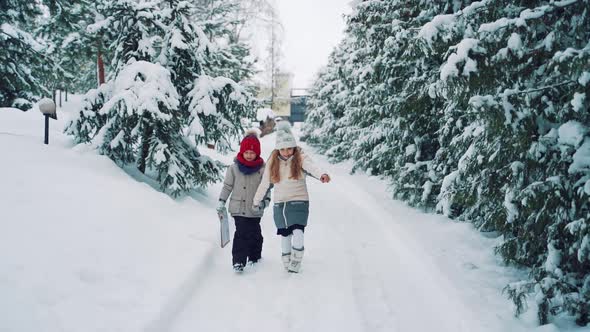
[[[43,121],[0,110],[0,331],[143,331],[217,248],[215,198],[172,200],[71,149],[63,120],[44,145]]]

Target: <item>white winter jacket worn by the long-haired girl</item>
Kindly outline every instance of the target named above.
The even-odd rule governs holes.
[[[309,195],[307,193],[307,184],[305,183],[306,173],[319,179],[325,172],[320,171],[305,153],[300,150],[302,158],[303,174],[300,179],[294,180],[289,179],[291,176],[291,161],[293,157],[287,160],[278,158],[280,163],[279,172],[281,175],[281,181],[274,184],[273,200],[275,203],[289,202],[289,201],[309,201]],[[264,174],[262,175],[262,181],[256,190],[254,195],[254,205],[260,205],[260,202],[264,198],[266,191],[270,187],[270,165],[271,161],[266,163],[264,168]]]

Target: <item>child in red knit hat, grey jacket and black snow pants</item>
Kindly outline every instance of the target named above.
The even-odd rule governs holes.
[[[242,272],[246,264],[254,264],[261,258],[260,218],[269,205],[270,196],[267,195],[258,208],[252,207],[252,201],[263,172],[264,160],[260,157],[258,135],[249,131],[240,142],[240,152],[234,163],[227,168],[217,207],[217,211],[223,212],[229,198],[228,212],[236,223],[232,245],[232,264],[236,272]]]

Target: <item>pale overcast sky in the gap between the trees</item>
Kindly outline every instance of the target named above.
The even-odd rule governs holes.
[[[293,87],[307,88],[342,39],[343,14],[351,0],[275,0],[283,23],[282,64],[294,74]]]

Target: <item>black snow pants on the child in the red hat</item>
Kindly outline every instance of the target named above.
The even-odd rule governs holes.
[[[257,262],[262,254],[262,230],[260,218],[234,216],[236,232],[232,247],[232,263],[246,265],[247,261]]]

